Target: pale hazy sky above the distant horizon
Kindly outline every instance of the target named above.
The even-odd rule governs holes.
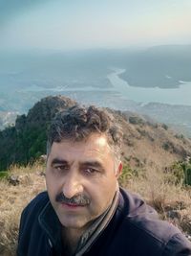
[[[0,49],[191,44],[191,0],[0,0]]]

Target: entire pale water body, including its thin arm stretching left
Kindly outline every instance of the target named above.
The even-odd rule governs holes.
[[[131,100],[141,104],[160,103],[169,105],[191,105],[191,81],[180,81],[180,87],[176,88],[159,88],[159,87],[137,87],[130,86],[127,81],[122,80],[118,75],[125,72],[125,69],[112,68],[111,73],[107,75],[107,79],[113,85],[110,88],[100,88],[95,86],[81,86],[72,88],[69,85],[45,88],[32,84],[32,86],[20,90],[21,92],[49,92],[68,93],[68,92],[95,92],[110,91],[120,97],[122,100]],[[169,79],[166,75],[166,79]],[[89,99],[91,100],[91,99]]]

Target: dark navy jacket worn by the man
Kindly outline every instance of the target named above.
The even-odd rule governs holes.
[[[49,217],[42,219],[47,192],[32,200],[21,216],[18,256],[64,256],[59,221],[50,204]],[[40,216],[40,217],[39,217]],[[159,221],[144,201],[120,189],[117,210],[86,256],[185,256],[191,244],[172,224]]]

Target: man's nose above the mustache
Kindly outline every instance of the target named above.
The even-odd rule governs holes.
[[[71,173],[65,177],[62,192],[66,198],[73,198],[74,196],[82,194],[83,185],[79,175]]]

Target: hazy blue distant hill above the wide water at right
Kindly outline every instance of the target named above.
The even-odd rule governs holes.
[[[191,45],[163,45],[132,54],[120,77],[132,86],[174,88],[191,81]]]

